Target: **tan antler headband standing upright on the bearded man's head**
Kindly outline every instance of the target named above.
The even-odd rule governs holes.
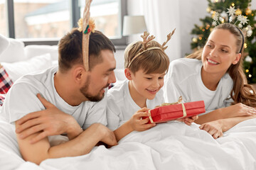
[[[94,32],[95,23],[90,20],[90,4],[92,0],[85,0],[85,10],[82,16],[82,60],[86,71],[89,71],[89,39]],[[81,19],[80,19],[81,21]],[[78,21],[78,22],[80,22]],[[80,30],[81,31],[81,30]]]

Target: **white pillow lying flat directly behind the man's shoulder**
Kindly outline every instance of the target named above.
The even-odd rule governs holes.
[[[23,62],[1,62],[1,64],[13,82],[25,74],[31,74],[52,67],[50,54],[39,55]]]

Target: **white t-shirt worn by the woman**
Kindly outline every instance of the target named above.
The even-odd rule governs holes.
[[[225,74],[220,79],[217,89],[210,91],[201,78],[202,66],[201,60],[196,59],[181,58],[171,62],[164,84],[165,101],[175,102],[179,96],[182,96],[183,102],[204,101],[206,113],[230,106],[233,102],[230,98],[230,91],[233,89],[230,75]]]

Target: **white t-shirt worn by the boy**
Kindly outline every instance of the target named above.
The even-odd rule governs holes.
[[[107,92],[107,127],[116,130],[124,122],[132,118],[132,115],[141,109],[134,102],[129,93],[129,81],[124,80],[114,85]],[[146,107],[149,109],[164,103],[164,91],[160,89],[153,100],[146,99]]]

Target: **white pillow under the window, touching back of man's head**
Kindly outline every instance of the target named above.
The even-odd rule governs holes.
[[[50,53],[52,60],[58,60],[58,45],[27,45],[25,47],[28,59],[46,53]]]

